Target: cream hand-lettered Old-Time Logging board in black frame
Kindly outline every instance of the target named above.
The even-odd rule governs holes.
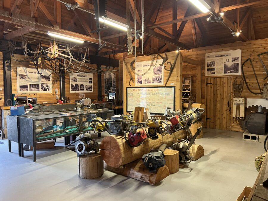
[[[127,111],[135,107],[148,108],[150,113],[164,114],[175,109],[175,87],[127,87]]]

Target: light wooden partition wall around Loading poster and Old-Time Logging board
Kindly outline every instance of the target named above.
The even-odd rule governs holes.
[[[174,63],[175,57],[176,57],[177,52],[168,52],[168,61],[170,61],[172,64]],[[164,56],[164,54],[162,54]],[[141,56],[137,57],[137,61],[150,61],[151,56]],[[125,59],[127,66],[131,72],[131,75],[133,79],[135,80],[135,74],[131,71],[130,69],[130,63],[133,61],[133,58]],[[169,66],[167,66],[169,69]],[[179,69],[180,68],[180,69]],[[175,109],[181,108],[181,87],[182,87],[182,74],[181,74],[181,68],[182,68],[182,54],[180,54],[177,58],[177,62],[175,65],[175,68],[169,78],[169,81],[166,86],[174,86],[175,87]],[[166,79],[168,77],[169,71],[164,70],[164,77],[163,77],[163,82],[166,82]],[[129,85],[131,84],[131,86]],[[164,85],[151,85],[151,86],[164,86]],[[130,82],[130,76],[125,68],[124,65],[124,100],[126,99],[126,88],[127,87],[135,87],[135,83]],[[142,86],[141,86],[142,87]],[[179,95],[178,95],[179,94]],[[126,101],[124,101],[124,113],[126,113]]]

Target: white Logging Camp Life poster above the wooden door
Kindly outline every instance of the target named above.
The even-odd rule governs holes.
[[[241,50],[206,54],[205,76],[240,75]]]

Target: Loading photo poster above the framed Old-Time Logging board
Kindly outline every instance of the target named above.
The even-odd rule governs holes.
[[[151,66],[151,61],[136,62],[135,85],[136,86],[164,85],[164,81],[163,81],[164,66],[160,66],[162,62],[163,62],[163,59],[160,59],[157,61],[155,60],[152,63],[152,66]],[[146,74],[143,75],[144,73]]]

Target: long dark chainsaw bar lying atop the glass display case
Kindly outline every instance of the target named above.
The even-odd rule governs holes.
[[[76,109],[76,104],[35,106],[32,108],[32,111],[34,113],[38,113],[38,112],[66,111],[72,109]]]

